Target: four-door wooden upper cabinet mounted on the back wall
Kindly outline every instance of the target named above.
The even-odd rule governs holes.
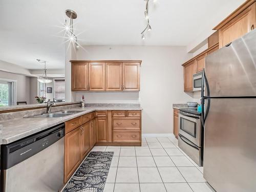
[[[141,61],[70,62],[72,91],[140,91]]]

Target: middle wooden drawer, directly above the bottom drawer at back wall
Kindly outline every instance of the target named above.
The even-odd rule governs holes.
[[[113,129],[140,129],[140,119],[113,119]]]

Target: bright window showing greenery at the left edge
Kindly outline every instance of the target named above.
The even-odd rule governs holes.
[[[0,79],[0,106],[13,105],[15,83],[8,79]]]

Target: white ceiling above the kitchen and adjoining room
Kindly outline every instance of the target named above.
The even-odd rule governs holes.
[[[0,60],[26,69],[65,67],[66,9],[77,13],[80,45],[187,46],[245,0],[150,0],[152,31],[143,41],[143,0],[1,0]]]

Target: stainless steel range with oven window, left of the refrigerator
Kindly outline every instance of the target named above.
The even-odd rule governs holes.
[[[203,166],[203,126],[197,109],[180,109],[179,147],[199,166]]]

